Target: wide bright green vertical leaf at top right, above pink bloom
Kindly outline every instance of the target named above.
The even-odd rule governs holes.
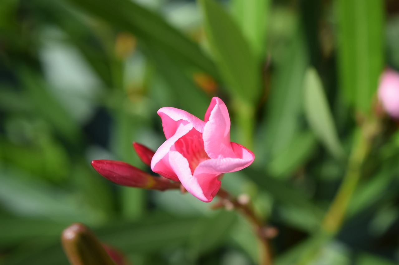
[[[368,113],[384,64],[384,2],[338,0],[338,73],[342,94]]]

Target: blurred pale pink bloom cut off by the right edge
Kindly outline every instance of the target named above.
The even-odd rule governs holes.
[[[381,75],[378,98],[385,111],[393,118],[399,119],[399,73],[387,69]]]

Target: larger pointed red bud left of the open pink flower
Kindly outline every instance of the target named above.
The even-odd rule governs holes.
[[[163,177],[154,177],[125,162],[93,160],[91,166],[106,179],[123,186],[161,191],[179,187],[179,183],[172,183]]]

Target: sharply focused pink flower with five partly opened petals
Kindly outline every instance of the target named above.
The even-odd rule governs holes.
[[[210,202],[223,173],[242,170],[255,159],[247,148],[230,142],[230,117],[225,103],[213,97],[204,121],[172,107],[158,110],[166,141],[151,160],[152,171],[180,181],[192,195]]]

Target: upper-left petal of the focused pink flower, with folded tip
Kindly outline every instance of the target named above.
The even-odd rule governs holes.
[[[192,126],[200,133],[203,132],[203,126],[205,123],[196,116],[182,109],[164,107],[158,110],[158,115],[162,119],[162,127],[166,139],[172,137],[181,125],[187,125],[188,123],[192,124]]]

